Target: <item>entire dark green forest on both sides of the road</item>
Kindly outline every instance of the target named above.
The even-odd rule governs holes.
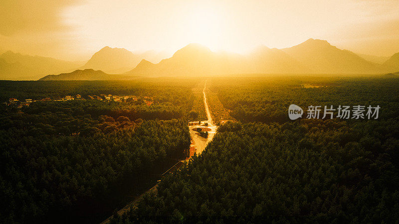
[[[8,203],[1,204],[0,220],[100,223],[152,187],[159,180],[154,174],[186,158],[187,121],[203,116],[202,81],[155,80],[60,82],[70,85],[63,90],[44,84],[54,85],[53,97],[79,94],[71,89],[90,84],[87,95],[147,96],[151,105],[85,99],[83,93],[82,100],[1,104],[0,200]],[[207,83],[211,113],[217,121],[228,113],[233,121],[220,124],[200,155],[163,176],[156,191],[111,224],[398,222],[398,78],[224,77]],[[21,96],[39,85],[19,84],[25,85],[15,89]],[[112,85],[120,92],[106,92]],[[137,92],[123,92],[124,86]],[[45,97],[45,89],[31,91]],[[381,109],[378,119],[292,121],[290,104]]]

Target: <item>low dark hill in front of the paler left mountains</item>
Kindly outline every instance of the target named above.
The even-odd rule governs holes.
[[[49,80],[127,80],[132,79],[132,76],[124,75],[110,75],[101,70],[84,69],[75,70],[70,73],[62,73],[59,75],[47,75],[40,78],[40,81]]]

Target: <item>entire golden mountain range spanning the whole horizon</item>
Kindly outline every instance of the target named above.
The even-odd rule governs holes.
[[[312,38],[283,49],[259,46],[248,54],[213,52],[203,45],[192,43],[176,51],[172,57],[162,59],[165,55],[155,51],[133,53],[124,48],[106,46],[84,63],[7,51],[0,55],[0,79],[37,79],[59,73],[62,73],[65,79],[68,77],[65,75],[67,72],[76,69],[125,74],[113,76],[117,79],[125,79],[126,75],[155,77],[243,73],[382,74],[399,71],[399,53],[392,57],[356,54],[339,49],[325,40]],[[69,76],[74,77],[73,74]],[[105,77],[108,76],[100,75],[97,79]]]

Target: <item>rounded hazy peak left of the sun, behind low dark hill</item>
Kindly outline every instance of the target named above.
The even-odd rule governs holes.
[[[91,68],[102,70],[109,74],[122,74],[136,67],[142,59],[158,62],[161,56],[162,53],[156,51],[134,54],[125,48],[111,48],[106,46],[94,53],[87,63],[79,69]]]

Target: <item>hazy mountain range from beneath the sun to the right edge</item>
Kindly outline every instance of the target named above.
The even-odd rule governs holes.
[[[399,70],[399,54],[383,64],[368,61],[325,40],[308,39],[289,48],[260,46],[248,55],[212,52],[189,44],[157,64],[142,60],[129,75],[202,76],[238,73],[378,74]]]

